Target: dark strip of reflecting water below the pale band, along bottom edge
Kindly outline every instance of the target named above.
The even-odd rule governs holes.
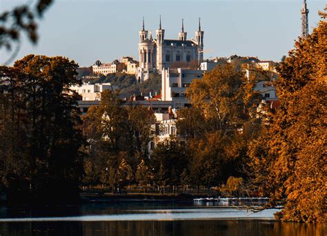
[[[297,235],[323,236],[322,224],[247,220],[24,222],[0,224],[0,235]]]

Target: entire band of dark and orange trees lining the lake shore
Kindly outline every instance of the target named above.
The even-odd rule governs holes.
[[[279,219],[324,222],[326,35],[320,21],[277,68],[278,108],[253,90],[270,72],[223,63],[190,85],[191,106],[177,114],[177,137],[161,142],[152,110],[110,91],[80,117],[78,96],[69,90],[81,82],[74,61],[29,55],[1,66],[1,195],[57,202],[75,200],[88,187],[160,193],[213,187],[219,195],[284,203]]]

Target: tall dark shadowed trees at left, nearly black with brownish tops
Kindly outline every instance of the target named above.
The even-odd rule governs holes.
[[[63,57],[35,55],[16,61],[14,68],[0,68],[1,97],[11,104],[4,111],[11,113],[10,124],[16,127],[14,135],[7,136],[14,144],[11,156],[21,155],[26,164],[9,183],[10,196],[18,197],[16,190],[21,190],[44,201],[77,197],[83,139],[77,129],[77,95],[69,89],[79,83],[76,68]]]

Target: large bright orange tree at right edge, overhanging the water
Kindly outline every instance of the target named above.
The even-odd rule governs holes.
[[[326,13],[320,14],[326,19]],[[281,106],[260,137],[260,146],[269,149],[260,150],[259,139],[252,144],[252,165],[264,164],[265,169],[257,179],[273,186],[266,188],[270,203],[286,200],[277,215],[282,220],[326,221],[326,35],[327,22],[322,20],[306,39],[299,38],[281,63]]]

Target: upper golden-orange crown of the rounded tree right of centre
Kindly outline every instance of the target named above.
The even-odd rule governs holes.
[[[232,132],[248,118],[259,94],[253,91],[255,79],[233,65],[219,65],[195,80],[187,90],[192,106],[201,110],[212,130]]]

